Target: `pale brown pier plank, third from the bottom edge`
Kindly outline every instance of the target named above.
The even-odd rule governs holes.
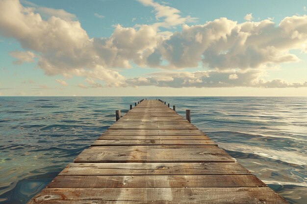
[[[236,162],[71,163],[59,175],[236,175],[251,174]]]

